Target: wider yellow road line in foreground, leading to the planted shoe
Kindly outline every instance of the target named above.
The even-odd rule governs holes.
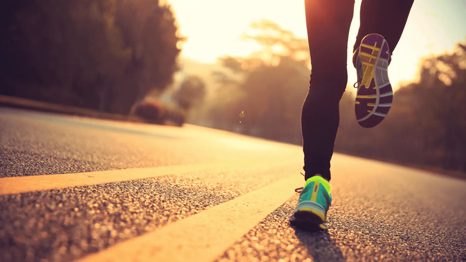
[[[210,262],[296,193],[299,174],[153,232],[116,244],[78,262]]]

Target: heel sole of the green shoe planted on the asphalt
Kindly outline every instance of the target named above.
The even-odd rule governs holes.
[[[303,201],[295,209],[293,214],[296,222],[307,225],[320,225],[325,221],[324,208],[316,202]]]

